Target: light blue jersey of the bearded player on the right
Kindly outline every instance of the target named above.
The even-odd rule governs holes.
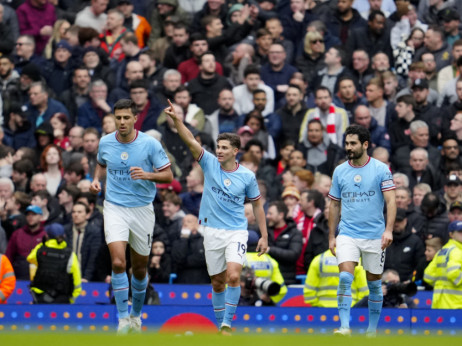
[[[385,231],[383,192],[395,189],[390,169],[369,157],[364,166],[342,163],[334,171],[329,197],[341,201],[339,234],[380,239]]]

